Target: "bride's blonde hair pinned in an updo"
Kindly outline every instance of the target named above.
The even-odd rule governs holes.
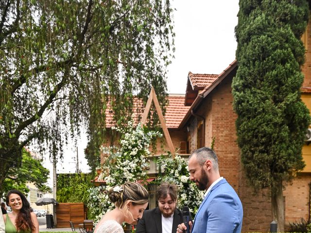
[[[148,191],[139,183],[126,182],[122,185],[116,185],[109,190],[109,200],[120,208],[123,213],[129,213],[126,204],[132,202],[133,205],[142,205],[148,202]]]

